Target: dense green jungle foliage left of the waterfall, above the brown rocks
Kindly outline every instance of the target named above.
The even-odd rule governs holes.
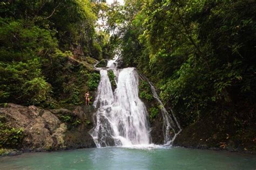
[[[83,103],[99,81],[95,59],[110,52],[107,34],[95,29],[95,6],[87,0],[0,2],[0,103]]]

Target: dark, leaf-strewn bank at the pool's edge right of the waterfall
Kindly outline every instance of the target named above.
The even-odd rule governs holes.
[[[235,134],[218,130],[219,125],[214,122],[213,118],[206,117],[184,128],[173,141],[173,146],[256,153],[255,129],[237,138]]]

